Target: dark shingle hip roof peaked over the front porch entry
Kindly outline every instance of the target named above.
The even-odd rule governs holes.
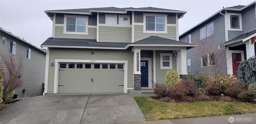
[[[136,41],[131,44],[164,44],[164,45],[191,45],[189,43],[184,43],[172,39],[166,39],[158,36],[150,36],[148,38]]]

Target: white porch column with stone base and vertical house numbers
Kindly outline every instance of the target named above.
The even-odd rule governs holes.
[[[140,49],[132,48],[133,52],[133,89],[134,91],[140,91],[141,89],[141,72],[140,72]]]

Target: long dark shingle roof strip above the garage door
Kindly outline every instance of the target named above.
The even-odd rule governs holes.
[[[69,39],[49,37],[42,43],[47,46],[78,46],[78,47],[119,47],[124,48],[129,43],[97,42],[96,39]]]

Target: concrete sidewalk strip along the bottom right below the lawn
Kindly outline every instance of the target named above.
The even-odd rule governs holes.
[[[256,113],[132,122],[124,124],[256,124]]]

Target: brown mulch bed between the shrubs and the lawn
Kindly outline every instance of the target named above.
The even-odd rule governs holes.
[[[172,97],[152,97],[153,99],[164,102],[200,102],[200,101],[226,101],[226,102],[242,102],[239,98],[232,98],[229,96],[210,96],[206,93],[196,93],[194,96],[186,96],[182,99],[175,99]],[[255,102],[256,103],[256,102]]]

